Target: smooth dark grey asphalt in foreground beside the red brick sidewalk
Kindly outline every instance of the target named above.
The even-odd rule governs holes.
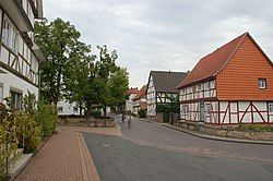
[[[273,165],[186,154],[84,133],[102,181],[272,181]]]

